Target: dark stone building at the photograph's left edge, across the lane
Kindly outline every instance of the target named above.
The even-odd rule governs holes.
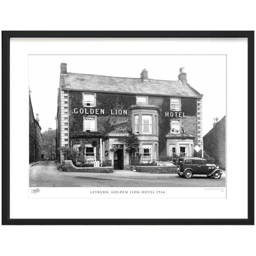
[[[41,127],[38,114],[34,118],[34,112],[29,93],[29,162],[41,160]]]

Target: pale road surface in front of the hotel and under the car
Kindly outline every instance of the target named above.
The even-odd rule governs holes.
[[[130,170],[113,173],[62,172],[54,161],[30,164],[30,187],[225,187],[226,172],[219,180],[206,176],[190,179],[178,174],[150,174]]]

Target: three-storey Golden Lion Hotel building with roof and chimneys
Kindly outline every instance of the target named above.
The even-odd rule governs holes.
[[[76,74],[62,63],[58,147],[74,148],[84,160],[111,160],[114,169],[130,168],[120,138],[131,134],[142,161],[193,156],[202,144],[202,96],[188,84],[184,68],[177,81],[168,81],[148,78],[146,69],[140,78]]]

